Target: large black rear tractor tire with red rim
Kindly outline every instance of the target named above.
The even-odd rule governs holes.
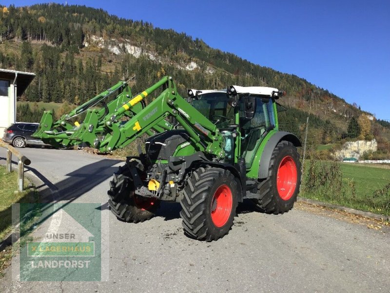
[[[285,176],[290,176],[291,179],[288,182],[280,183],[279,181],[278,185],[278,170],[285,164],[290,169],[290,173]],[[294,174],[296,174],[296,180]],[[257,192],[260,199],[254,199],[256,207],[262,212],[273,214],[284,213],[292,209],[299,193],[301,175],[301,163],[296,147],[291,142],[281,141],[273,150],[267,179],[258,184]],[[287,191],[285,187],[288,188]]]

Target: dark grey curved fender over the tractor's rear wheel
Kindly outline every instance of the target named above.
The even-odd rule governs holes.
[[[281,141],[292,142],[294,146],[302,146],[299,139],[292,133],[287,131],[278,131],[266,143],[263,153],[261,154],[258,178],[263,179],[268,177],[268,169],[270,167],[271,156],[276,145]]]

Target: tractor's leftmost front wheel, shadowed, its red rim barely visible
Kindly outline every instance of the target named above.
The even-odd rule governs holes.
[[[140,162],[137,162],[141,167]],[[141,168],[143,169],[143,168]],[[139,172],[142,172],[138,168]],[[119,167],[110,182],[110,190],[107,191],[108,204],[111,211],[119,220],[138,223],[149,220],[156,215],[159,206],[158,200],[153,201],[137,197],[134,194],[134,184],[131,172],[127,165]]]

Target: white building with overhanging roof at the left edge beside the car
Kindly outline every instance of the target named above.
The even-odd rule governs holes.
[[[16,122],[16,97],[33,81],[34,73],[0,69],[0,137]]]

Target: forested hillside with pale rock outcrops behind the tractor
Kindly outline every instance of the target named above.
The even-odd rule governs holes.
[[[340,139],[339,133],[345,136],[351,117],[363,113],[358,105],[303,78],[148,22],[120,19],[78,5],[0,7],[0,67],[37,75],[21,101],[80,105],[119,80],[132,79],[137,93],[169,74],[182,94],[187,87],[226,88],[230,84],[283,89],[288,94],[280,103],[289,111],[281,117],[299,124],[311,115],[317,125],[324,125],[322,137],[331,136],[322,143]],[[29,109],[20,111],[26,115]],[[380,127],[388,125],[383,122]]]

